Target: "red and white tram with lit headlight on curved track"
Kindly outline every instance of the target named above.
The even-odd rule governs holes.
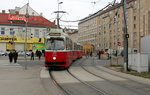
[[[64,32],[49,32],[45,41],[45,67],[69,68],[82,57],[82,46]]]

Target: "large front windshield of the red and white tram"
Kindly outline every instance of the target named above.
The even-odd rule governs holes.
[[[47,50],[64,50],[65,41],[62,37],[51,37],[46,40],[46,49]]]

